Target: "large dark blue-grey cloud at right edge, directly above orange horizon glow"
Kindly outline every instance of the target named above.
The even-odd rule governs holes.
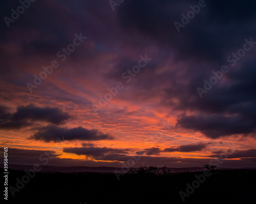
[[[256,127],[256,77],[255,61],[247,61],[237,69],[230,70],[226,77],[228,82],[217,85],[203,98],[196,97],[191,102],[184,100],[181,109],[200,111],[197,115],[181,115],[177,126],[200,131],[205,136],[219,137],[255,133]],[[202,87],[202,86],[201,86]]]

